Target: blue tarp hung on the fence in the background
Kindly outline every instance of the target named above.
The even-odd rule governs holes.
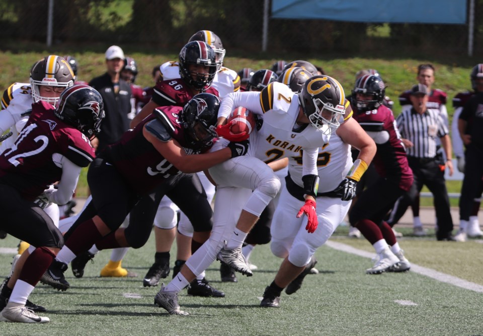
[[[273,19],[465,24],[465,0],[272,0]]]

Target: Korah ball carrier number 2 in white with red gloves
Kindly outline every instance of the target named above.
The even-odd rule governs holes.
[[[331,77],[310,78],[299,95],[286,85],[274,82],[262,92],[232,93],[223,99],[218,113],[217,132],[225,140],[219,141],[213,149],[222,147],[234,136],[229,131],[231,125],[226,123],[226,118],[237,106],[244,106],[262,116],[263,125],[260,130],[251,133],[252,145],[245,160],[228,160],[209,169],[217,185],[213,229],[210,238],[188,259],[176,279],[166,287],[162,286],[157,293],[154,302],[170,314],[188,314],[180,309],[178,292],[216,258],[237,272],[252,275],[241,253],[241,245],[280,189],[279,178],[265,162],[298,156],[303,151],[301,163],[305,203],[299,213],[293,216],[307,215],[305,229],[309,233],[316,230],[318,147],[327,144],[332,131],[352,115],[345,115],[349,102],[345,100],[342,86]]]

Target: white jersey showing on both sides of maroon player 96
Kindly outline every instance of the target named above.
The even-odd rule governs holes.
[[[177,61],[170,61],[159,66],[163,81],[180,78],[180,65]],[[236,72],[224,66],[215,74],[213,88],[218,90],[220,98],[224,98],[228,93],[240,90],[240,77]]]

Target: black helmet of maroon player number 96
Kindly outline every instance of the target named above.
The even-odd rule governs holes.
[[[190,72],[190,64],[203,65],[208,67],[208,74]],[[215,52],[203,41],[188,42],[181,49],[179,57],[180,76],[188,85],[196,90],[202,90],[206,86],[211,86],[215,78],[217,65],[215,62]],[[196,76],[193,79],[193,75]]]

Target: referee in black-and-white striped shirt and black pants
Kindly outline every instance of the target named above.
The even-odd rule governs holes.
[[[409,166],[413,170],[414,182],[406,195],[399,199],[394,214],[389,223],[397,223],[404,215],[423,185],[433,193],[434,207],[438,230],[438,240],[455,241],[452,236],[453,220],[451,219],[448,191],[444,180],[444,170],[449,169],[453,174],[451,162],[451,140],[448,127],[441,118],[440,111],[427,108],[429,90],[426,85],[416,84],[411,89],[411,104],[403,108],[396,118],[403,144],[408,154]],[[437,138],[446,154],[446,162],[437,155]]]

